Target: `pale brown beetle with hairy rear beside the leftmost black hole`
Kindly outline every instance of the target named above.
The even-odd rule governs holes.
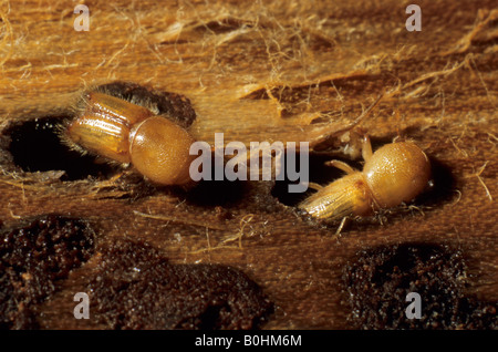
[[[62,138],[71,147],[90,152],[137,172],[159,185],[191,182],[189,154],[195,142],[169,116],[101,91],[83,95],[76,117],[62,128]]]

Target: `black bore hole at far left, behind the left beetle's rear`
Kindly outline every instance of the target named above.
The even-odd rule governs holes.
[[[14,125],[4,134],[10,135],[8,151],[15,166],[27,173],[63,170],[62,180],[107,178],[117,166],[97,163],[92,155],[82,155],[62,143],[60,126],[65,116],[49,116]]]

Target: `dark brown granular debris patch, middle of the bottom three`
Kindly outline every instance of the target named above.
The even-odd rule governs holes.
[[[256,329],[272,312],[257,283],[221,265],[173,265],[144,242],[117,240],[86,288],[110,329]]]

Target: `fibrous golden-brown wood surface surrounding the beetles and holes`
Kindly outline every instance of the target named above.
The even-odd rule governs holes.
[[[466,294],[498,300],[495,1],[418,1],[421,32],[405,29],[411,1],[85,3],[90,31],[76,32],[72,1],[0,2],[3,227],[44,214],[80,217],[102,241],[143,239],[173,262],[240,269],[276,304],[264,329],[350,329],[346,262],[407,242],[458,248]],[[141,182],[61,180],[13,165],[6,131],[70,116],[82,89],[116,80],[187,96],[197,113],[191,134],[211,144],[215,132],[245,143],[318,141],[385,92],[360,127],[374,146],[415,141],[437,165],[437,188],[382,224],[351,221],[336,237],[339,224],[307,221],[294,211],[299,197],[271,183],[135,197]],[[312,158],[312,180],[339,176],[324,159]],[[79,328],[53,318],[65,317],[53,301],[74,291],[68,282],[40,306],[41,328]]]

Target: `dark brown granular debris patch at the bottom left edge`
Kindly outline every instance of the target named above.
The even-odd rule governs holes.
[[[38,329],[38,307],[85,262],[95,234],[80,219],[48,215],[0,235],[0,329]]]

